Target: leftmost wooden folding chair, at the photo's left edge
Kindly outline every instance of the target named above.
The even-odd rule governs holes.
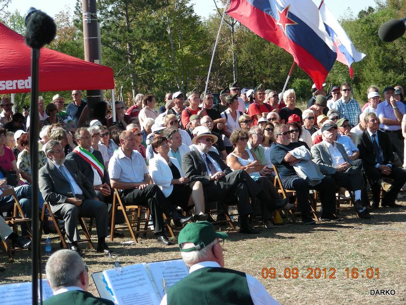
[[[21,208],[20,201],[18,200],[16,193],[14,192],[14,189],[10,188],[10,189],[6,189],[6,190],[2,190],[2,191],[3,191],[3,193],[0,195],[0,197],[13,196],[13,198],[14,198],[13,211],[10,216],[4,218],[4,220],[6,221],[6,224],[8,224],[10,227],[12,227],[13,231],[15,233],[18,232],[19,224],[24,225],[29,234],[29,237],[31,237],[31,228],[29,225],[31,218],[24,217],[24,212]],[[7,255],[9,256],[10,261],[13,262],[14,261],[13,252],[15,252],[16,250],[23,250],[23,249],[15,248],[15,245],[12,245],[11,247],[9,247],[9,245],[7,244],[7,241],[5,241],[3,239],[2,239],[2,242],[3,242],[4,248],[6,249]]]

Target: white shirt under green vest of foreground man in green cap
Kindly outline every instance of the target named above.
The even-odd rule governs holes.
[[[206,267],[220,268],[221,266],[217,262],[213,261],[199,262],[190,267],[189,273],[192,273],[193,271],[196,271],[200,268]],[[248,290],[250,291],[251,299],[254,305],[279,304],[272,296],[269,295],[269,293],[266,291],[265,287],[261,284],[261,282],[259,282],[254,277],[248,275],[247,273],[245,273],[245,275],[247,278]],[[165,294],[161,300],[160,305],[166,305],[166,303],[167,299]]]

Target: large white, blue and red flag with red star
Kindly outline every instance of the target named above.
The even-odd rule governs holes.
[[[231,0],[227,14],[292,54],[322,87],[336,53],[312,0]]]

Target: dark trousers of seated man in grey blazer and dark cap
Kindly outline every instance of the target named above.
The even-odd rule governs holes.
[[[361,191],[361,202],[363,206],[369,205],[368,195],[366,194],[366,184],[362,171],[352,166],[343,172],[336,172],[331,175],[337,186],[349,189],[351,191]]]

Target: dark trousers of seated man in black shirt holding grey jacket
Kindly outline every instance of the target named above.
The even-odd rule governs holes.
[[[282,184],[285,189],[296,191],[299,211],[302,216],[310,216],[310,189],[317,190],[320,194],[323,216],[328,216],[336,212],[335,183],[331,177],[325,176],[318,185],[309,186],[308,181],[295,175],[285,177]]]

